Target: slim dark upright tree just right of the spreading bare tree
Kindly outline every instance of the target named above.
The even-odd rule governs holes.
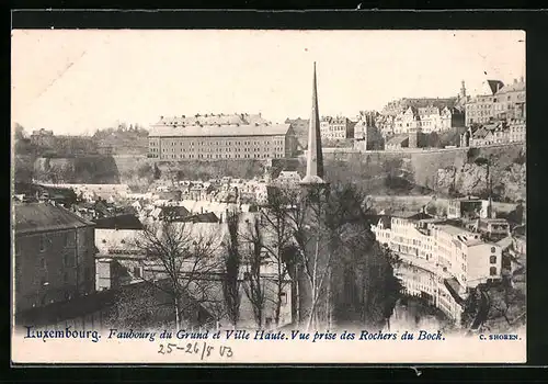
[[[228,239],[225,255],[225,276],[222,279],[222,295],[227,307],[228,317],[236,328],[240,319],[240,213],[231,211],[227,214]]]

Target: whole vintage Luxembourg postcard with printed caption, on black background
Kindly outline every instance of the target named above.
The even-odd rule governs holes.
[[[526,362],[523,31],[12,31],[14,363]]]

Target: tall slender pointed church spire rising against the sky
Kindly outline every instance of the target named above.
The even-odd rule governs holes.
[[[320,112],[318,110],[318,88],[316,61],[313,63],[312,114],[308,126],[307,174],[302,183],[323,183],[323,155],[321,151]]]

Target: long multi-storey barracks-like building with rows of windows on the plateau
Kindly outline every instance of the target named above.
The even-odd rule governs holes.
[[[221,122],[226,123],[226,122]],[[149,135],[149,158],[159,160],[273,159],[295,156],[289,124],[157,126]]]

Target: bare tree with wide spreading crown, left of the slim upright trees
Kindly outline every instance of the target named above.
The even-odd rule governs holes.
[[[147,256],[142,279],[171,297],[175,327],[181,329],[190,320],[189,309],[204,300],[197,293],[205,292],[218,271],[214,235],[196,233],[191,223],[161,222],[147,226],[134,242]],[[159,284],[161,280],[168,283]]]

